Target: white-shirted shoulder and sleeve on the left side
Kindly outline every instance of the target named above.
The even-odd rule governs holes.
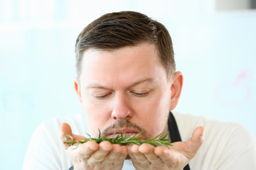
[[[33,132],[28,145],[23,169],[68,169],[70,159],[63,149],[60,125],[68,123],[73,132],[85,135],[88,131],[83,115],[45,120]]]

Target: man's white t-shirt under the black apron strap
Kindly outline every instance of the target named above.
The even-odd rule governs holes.
[[[204,128],[203,145],[189,162],[191,170],[256,169],[256,138],[242,125],[180,113],[174,113],[174,117],[182,141],[187,141],[199,125]],[[64,122],[76,135],[90,134],[84,114],[43,122],[31,137],[23,170],[68,170],[72,166],[60,140],[60,125]],[[132,162],[126,160],[123,169],[134,169]]]

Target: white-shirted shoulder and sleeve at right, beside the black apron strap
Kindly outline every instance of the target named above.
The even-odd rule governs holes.
[[[191,160],[194,169],[252,169],[256,167],[256,139],[243,125],[203,116],[174,113],[181,139],[203,126],[203,145]]]

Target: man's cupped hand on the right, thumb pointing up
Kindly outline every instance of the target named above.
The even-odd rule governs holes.
[[[135,169],[183,169],[195,157],[203,144],[203,127],[193,131],[187,142],[174,142],[173,146],[153,147],[149,144],[129,145],[128,154]]]

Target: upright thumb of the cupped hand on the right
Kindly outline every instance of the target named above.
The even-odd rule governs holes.
[[[198,126],[193,131],[192,137],[187,142],[187,151],[190,154],[191,157],[194,157],[196,155],[196,152],[198,152],[198,149],[203,144],[203,127]]]

